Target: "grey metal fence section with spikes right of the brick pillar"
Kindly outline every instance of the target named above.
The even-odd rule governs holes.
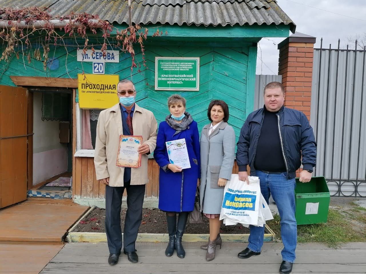
[[[357,45],[357,42],[356,42]],[[365,54],[314,49],[311,126],[317,140],[315,176],[333,196],[366,197]]]

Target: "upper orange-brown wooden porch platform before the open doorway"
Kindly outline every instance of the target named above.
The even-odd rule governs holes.
[[[1,241],[61,242],[89,207],[71,199],[29,198],[0,210]]]

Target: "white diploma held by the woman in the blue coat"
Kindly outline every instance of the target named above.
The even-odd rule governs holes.
[[[186,139],[179,139],[165,142],[168,150],[169,161],[171,164],[179,165],[184,168],[190,168]]]

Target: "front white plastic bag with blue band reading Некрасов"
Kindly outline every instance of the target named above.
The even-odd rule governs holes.
[[[258,224],[261,189],[258,177],[248,176],[249,185],[239,180],[238,174],[232,174],[224,190],[220,220],[228,223]],[[230,221],[227,221],[230,220]]]

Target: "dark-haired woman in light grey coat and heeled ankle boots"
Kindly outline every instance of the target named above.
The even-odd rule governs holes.
[[[201,134],[201,186],[199,188],[201,210],[210,221],[206,260],[215,258],[216,246],[221,249],[220,212],[224,198],[224,187],[231,179],[235,155],[235,132],[228,125],[229,108],[222,100],[212,100],[207,116],[211,121]]]

